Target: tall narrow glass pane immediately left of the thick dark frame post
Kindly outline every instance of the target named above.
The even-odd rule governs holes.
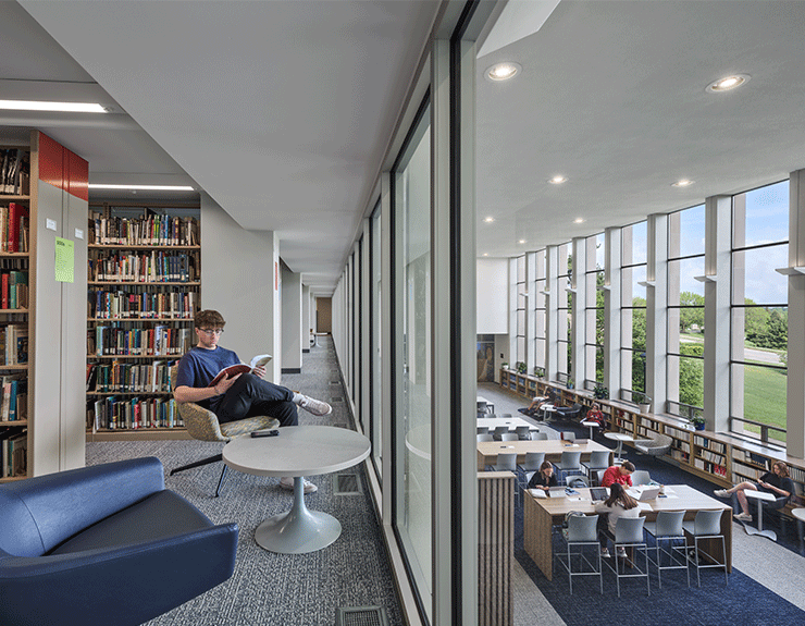
[[[410,574],[430,611],[432,586],[431,469],[431,152],[426,108],[394,170],[395,229],[401,281],[395,390],[394,520]],[[400,293],[399,291],[397,293]]]

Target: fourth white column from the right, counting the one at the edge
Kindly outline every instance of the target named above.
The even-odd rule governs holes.
[[[620,397],[620,298],[621,229],[607,229],[604,280],[604,386],[609,397]]]

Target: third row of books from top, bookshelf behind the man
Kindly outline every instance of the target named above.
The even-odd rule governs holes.
[[[197,292],[90,291],[87,316],[95,319],[193,319],[198,310]]]

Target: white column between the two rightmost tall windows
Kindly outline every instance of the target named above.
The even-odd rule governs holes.
[[[704,413],[708,430],[729,431],[732,198],[705,200]]]

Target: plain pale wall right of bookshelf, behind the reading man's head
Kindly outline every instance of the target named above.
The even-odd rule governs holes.
[[[280,296],[276,235],[246,231],[207,194],[201,195],[201,308],[226,320],[221,345],[249,361],[271,354],[265,378],[280,381]],[[276,281],[278,282],[278,281]]]

